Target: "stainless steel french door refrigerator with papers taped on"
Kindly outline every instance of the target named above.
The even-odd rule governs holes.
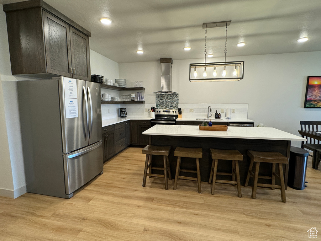
[[[71,198],[103,173],[100,85],[17,81],[27,192]]]

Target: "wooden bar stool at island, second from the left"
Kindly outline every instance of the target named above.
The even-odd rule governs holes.
[[[197,181],[198,193],[202,193],[202,190],[201,190],[201,173],[200,173],[200,163],[199,163],[199,159],[202,158],[202,156],[203,156],[202,148],[176,147],[176,149],[174,151],[174,156],[177,156],[177,165],[176,165],[176,174],[175,174],[175,181],[174,181],[174,190],[176,190],[178,179],[184,179],[184,180]],[[196,171],[180,169],[181,157],[196,158]],[[188,176],[180,176],[179,175],[180,172],[197,173],[197,178],[196,177],[188,177]]]

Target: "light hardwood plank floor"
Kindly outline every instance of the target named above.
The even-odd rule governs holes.
[[[62,199],[26,193],[13,200],[0,197],[0,240],[308,240],[316,227],[321,239],[321,171],[311,168],[308,187],[280,190],[147,178],[145,156],[130,147],[104,165],[104,174]]]

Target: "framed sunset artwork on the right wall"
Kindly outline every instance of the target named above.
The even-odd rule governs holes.
[[[304,108],[321,108],[321,76],[308,76]]]

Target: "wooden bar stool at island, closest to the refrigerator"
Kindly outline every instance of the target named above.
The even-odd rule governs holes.
[[[165,178],[165,189],[168,190],[168,183],[167,183],[167,173],[169,180],[172,180],[172,176],[169,170],[169,152],[171,147],[158,147],[147,145],[143,149],[143,154],[146,154],[146,161],[145,161],[145,170],[144,170],[144,178],[143,178],[143,187],[146,186],[146,178],[147,175],[149,177],[163,177]],[[152,167],[152,155],[163,156],[164,160],[164,168],[162,167]],[[149,173],[147,173],[147,169],[149,168]],[[152,170],[164,170],[164,175],[162,174],[152,174]]]

